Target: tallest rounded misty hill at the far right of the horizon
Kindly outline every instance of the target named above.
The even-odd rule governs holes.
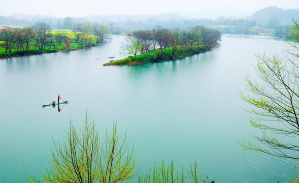
[[[253,13],[247,19],[256,20],[257,24],[269,24],[270,19],[275,19],[280,22],[280,24],[289,25],[292,19],[299,20],[299,9],[287,9],[277,8],[275,6],[260,9]]]

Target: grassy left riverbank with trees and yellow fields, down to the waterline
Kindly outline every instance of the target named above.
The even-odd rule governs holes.
[[[45,22],[28,27],[4,27],[0,31],[0,58],[67,52],[85,49],[104,43],[109,31],[99,26],[101,35],[77,30],[52,29]]]

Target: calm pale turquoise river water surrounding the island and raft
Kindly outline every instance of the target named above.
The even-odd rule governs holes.
[[[122,36],[68,53],[0,60],[0,182],[26,180],[50,168],[52,137],[62,141],[69,118],[82,126],[94,117],[101,136],[118,122],[127,129],[142,171],[171,160],[185,168],[195,160],[216,182],[283,182],[294,161],[244,151],[237,144],[259,131],[249,125],[249,107],[238,97],[241,76],[254,73],[254,54],[280,52],[283,41],[259,36],[222,36],[210,52],[141,66],[103,67],[122,58]],[[45,107],[68,100],[58,114]]]

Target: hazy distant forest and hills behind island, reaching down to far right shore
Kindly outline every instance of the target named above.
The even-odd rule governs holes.
[[[0,16],[0,25],[31,26],[36,22],[46,22],[52,28],[74,29],[86,22],[97,22],[110,27],[112,34],[131,33],[136,29],[152,29],[157,26],[169,29],[190,30],[194,26],[211,26],[221,33],[267,34],[287,37],[292,19],[299,20],[299,9],[283,10],[277,7],[261,9],[247,18],[193,19],[176,14],[143,16],[90,16],[56,18],[46,15],[28,16],[14,13],[9,17]]]

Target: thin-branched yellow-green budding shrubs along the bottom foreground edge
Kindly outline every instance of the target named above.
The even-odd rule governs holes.
[[[53,167],[48,169],[42,178],[28,177],[28,182],[80,182],[80,183],[116,183],[128,182],[136,178],[136,182],[192,182],[199,183],[204,178],[203,168],[197,162],[191,163],[186,173],[184,168],[178,171],[174,162],[160,166],[142,175],[140,165],[133,156],[133,148],[129,149],[124,135],[119,140],[117,124],[109,135],[106,130],[105,142],[101,143],[94,120],[85,114],[84,126],[78,131],[70,120],[70,128],[63,143],[56,143],[51,149]],[[205,181],[204,181],[205,182]]]

